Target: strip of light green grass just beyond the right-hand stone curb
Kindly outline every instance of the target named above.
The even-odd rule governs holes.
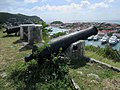
[[[110,64],[112,66],[120,68],[120,62],[114,62],[114,60],[110,60],[110,59],[108,59],[106,57],[98,55],[93,51],[86,50],[85,51],[85,56],[97,59],[97,60],[102,61],[104,63],[107,63],[107,64]]]

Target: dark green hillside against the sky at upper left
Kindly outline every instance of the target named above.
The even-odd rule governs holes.
[[[43,20],[38,16],[27,16],[23,14],[11,14],[0,12],[0,24],[17,26],[19,24],[40,23]]]

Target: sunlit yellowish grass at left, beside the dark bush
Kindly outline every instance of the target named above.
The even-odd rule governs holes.
[[[12,81],[8,77],[11,71],[25,64],[24,56],[31,53],[31,50],[20,51],[23,47],[19,37],[7,36],[0,31],[0,90],[14,90]]]

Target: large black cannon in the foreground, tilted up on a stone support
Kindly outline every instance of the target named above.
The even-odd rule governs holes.
[[[62,48],[62,52],[64,52],[72,43],[87,39],[89,36],[96,35],[97,33],[97,28],[91,26],[87,29],[52,39],[47,44],[40,43],[35,45],[33,46],[32,54],[25,57],[25,62],[29,62],[32,59],[36,59],[38,62],[49,59],[51,55],[59,54],[60,48]]]

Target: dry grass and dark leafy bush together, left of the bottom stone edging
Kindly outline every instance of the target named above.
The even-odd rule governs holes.
[[[71,90],[68,59],[59,56],[38,64],[24,62],[31,53],[22,47],[19,37],[0,32],[0,89],[1,90]]]

